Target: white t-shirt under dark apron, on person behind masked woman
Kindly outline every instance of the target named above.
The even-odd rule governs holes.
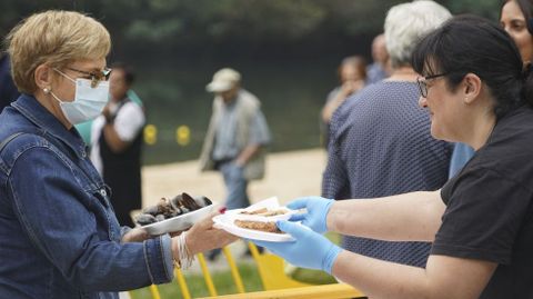
[[[118,109],[118,104],[110,102],[111,113],[114,113]],[[117,131],[119,138],[124,142],[133,141],[133,139],[139,133],[139,130],[142,129],[145,122],[144,112],[139,104],[128,101],[122,106],[119,113],[114,118],[113,128]],[[102,157],[100,155],[100,134],[102,128],[105,124],[105,118],[103,116],[98,117],[91,127],[91,161],[97,168],[98,172],[102,175],[103,163]]]

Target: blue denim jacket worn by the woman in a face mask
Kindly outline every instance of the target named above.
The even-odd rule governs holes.
[[[2,298],[118,298],[171,281],[168,235],[121,243],[110,190],[76,131],[33,97],[0,114],[0,295]]]

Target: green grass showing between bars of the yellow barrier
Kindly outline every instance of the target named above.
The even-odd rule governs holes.
[[[242,282],[244,285],[244,290],[247,292],[263,290],[263,286],[261,283],[261,279],[259,277],[258,268],[255,267],[255,265],[241,263],[238,266],[238,268],[239,268],[239,273],[241,275],[241,278],[242,278]],[[205,286],[205,280],[203,279],[202,275],[184,273],[184,276],[185,276],[187,286],[189,287],[189,292],[191,293],[192,298],[209,296],[208,287]],[[212,272],[211,277],[213,279],[213,283],[218,295],[228,295],[228,293],[238,292],[235,288],[235,282],[233,281],[230,270]],[[178,285],[178,281],[175,279],[170,283],[159,285],[158,289],[161,295],[161,299],[183,298],[181,295],[181,290]],[[132,299],[152,298],[149,288],[134,290],[131,292],[131,296],[132,296]]]

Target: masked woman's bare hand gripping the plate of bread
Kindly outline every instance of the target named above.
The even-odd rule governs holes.
[[[213,228],[212,218],[217,215],[220,213],[211,213],[202,221],[197,222],[187,233],[185,243],[191,255],[221,248],[239,239],[225,230]]]

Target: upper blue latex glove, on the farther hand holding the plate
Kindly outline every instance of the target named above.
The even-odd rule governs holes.
[[[324,233],[328,231],[326,217],[330,211],[332,199],[322,197],[302,197],[294,201],[291,201],[286,207],[289,209],[308,209],[304,213],[296,213],[291,217],[291,221],[302,221],[302,225],[311,228],[312,230]]]

